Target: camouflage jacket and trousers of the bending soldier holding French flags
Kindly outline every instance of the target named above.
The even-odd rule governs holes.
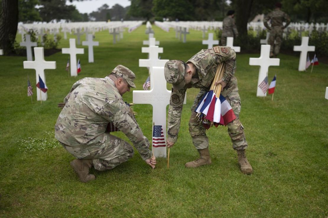
[[[215,46],[210,49],[202,49],[195,54],[187,63],[193,63],[196,66],[198,78],[192,78],[189,84],[186,84],[182,89],[172,92],[170,106],[168,112],[168,136],[167,139],[171,142],[176,142],[180,119],[183,106],[183,100],[188,88],[199,88],[200,91],[196,96],[193,106],[191,107],[191,117],[189,120],[189,133],[192,137],[193,144],[196,149],[204,149],[209,145],[206,129],[203,124],[195,118],[195,108],[203,95],[209,91],[214,80],[216,69],[221,62],[225,62],[225,70],[222,80],[227,85],[222,90],[221,94],[228,100],[236,119],[228,124],[228,134],[231,137],[233,148],[235,150],[243,150],[247,148],[247,142],[244,134],[244,127],[239,121],[240,113],[240,97],[238,93],[237,79],[234,76],[236,69],[236,53],[234,49],[224,46]],[[168,69],[170,66],[168,66]],[[182,71],[179,69],[180,72]],[[166,81],[173,83],[173,76],[166,76]]]

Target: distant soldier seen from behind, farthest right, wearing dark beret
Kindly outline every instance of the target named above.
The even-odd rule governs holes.
[[[282,42],[282,32],[290,24],[290,18],[288,14],[281,11],[281,4],[276,3],[276,8],[268,13],[264,17],[264,26],[270,31],[270,37],[268,39],[268,44],[270,46],[270,58],[277,57],[280,50],[280,45]],[[268,21],[271,19],[271,27],[268,25]],[[286,21],[286,25],[283,26],[282,22]],[[276,45],[275,45],[276,40]]]

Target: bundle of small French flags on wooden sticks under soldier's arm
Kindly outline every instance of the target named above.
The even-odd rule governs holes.
[[[199,101],[195,112],[196,117],[203,123],[206,129],[215,125],[227,125],[234,119],[236,115],[232,110],[229,102],[220,94],[221,84],[215,85],[222,79],[224,72],[224,63],[221,63],[216,71],[215,78],[212,82],[209,92],[206,92],[201,101]]]

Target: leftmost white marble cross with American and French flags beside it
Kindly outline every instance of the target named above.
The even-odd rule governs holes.
[[[44,53],[43,47],[35,47],[34,48],[34,56],[35,61],[24,61],[23,66],[24,69],[35,69],[35,76],[36,76],[36,83],[39,82],[39,75],[41,80],[46,84],[46,77],[44,74],[45,69],[56,69],[56,62],[55,61],[45,61],[44,60]],[[44,93],[37,88],[37,100],[45,101],[48,99],[47,92]]]

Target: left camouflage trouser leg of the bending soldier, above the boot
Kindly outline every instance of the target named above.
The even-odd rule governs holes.
[[[206,136],[206,129],[203,124],[200,123],[196,115],[197,113],[192,110],[189,120],[189,133],[193,139],[193,144],[196,149],[204,149],[208,147],[208,137]]]

